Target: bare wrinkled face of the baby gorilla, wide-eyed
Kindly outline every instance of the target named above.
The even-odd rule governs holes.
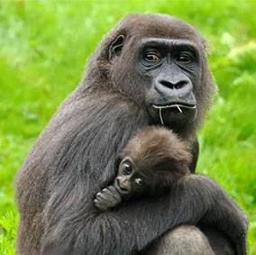
[[[142,192],[147,186],[146,178],[129,158],[124,158],[119,165],[118,174],[115,178],[115,187],[123,195]]]

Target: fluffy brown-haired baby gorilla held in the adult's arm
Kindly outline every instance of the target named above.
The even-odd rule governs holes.
[[[191,159],[189,146],[174,132],[147,127],[123,149],[114,183],[96,194],[95,205],[105,211],[132,196],[163,194],[189,173]]]

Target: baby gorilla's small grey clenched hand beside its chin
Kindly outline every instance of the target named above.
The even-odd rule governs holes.
[[[96,207],[101,211],[106,211],[121,202],[122,197],[113,186],[105,187],[101,192],[98,192],[94,200]]]

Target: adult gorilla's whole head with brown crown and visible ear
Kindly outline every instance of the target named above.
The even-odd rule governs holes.
[[[168,15],[129,15],[108,34],[94,61],[90,66],[100,66],[101,73],[89,70],[87,79],[105,77],[107,89],[146,108],[150,123],[179,133],[195,131],[215,91],[204,39]]]

